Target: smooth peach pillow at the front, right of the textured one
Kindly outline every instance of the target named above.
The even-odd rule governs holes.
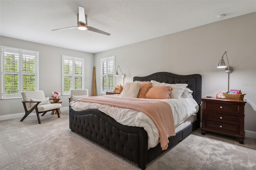
[[[147,99],[170,99],[170,86],[151,87],[146,93]]]

